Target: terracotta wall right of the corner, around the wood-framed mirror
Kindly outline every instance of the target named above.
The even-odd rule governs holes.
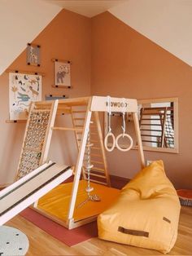
[[[145,22],[145,21],[143,21]],[[163,159],[176,188],[192,188],[192,68],[108,12],[92,19],[91,93],[135,99],[179,98],[179,154],[145,152]],[[111,174],[132,178],[137,152],[107,154]]]

